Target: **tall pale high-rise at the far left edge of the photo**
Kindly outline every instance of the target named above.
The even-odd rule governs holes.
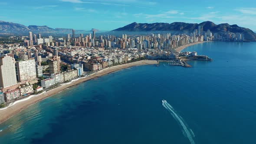
[[[15,59],[11,56],[0,57],[0,88],[17,84]]]

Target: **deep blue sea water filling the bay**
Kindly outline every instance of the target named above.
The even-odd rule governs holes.
[[[0,124],[0,144],[255,144],[256,43],[188,51],[212,62],[144,65],[73,86]]]

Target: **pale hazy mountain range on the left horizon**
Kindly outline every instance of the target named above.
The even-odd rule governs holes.
[[[93,29],[92,29],[93,30]],[[92,30],[75,30],[76,34],[80,33],[90,33]],[[72,29],[65,29],[65,28],[50,28],[48,26],[24,26],[18,23],[10,23],[5,21],[0,21],[0,35],[6,36],[22,36],[28,35],[28,32],[32,33],[40,33],[42,35],[48,36],[49,34],[53,36],[63,36],[64,34],[72,33]]]

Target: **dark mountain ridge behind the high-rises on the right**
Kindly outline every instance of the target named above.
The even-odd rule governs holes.
[[[112,30],[112,32],[149,32],[149,31],[171,31],[172,33],[193,33],[194,29],[197,29],[198,26],[201,26],[201,31],[207,31],[210,29],[212,33],[243,33],[245,39],[248,41],[256,41],[256,33],[251,29],[244,28],[234,25],[229,25],[228,23],[222,23],[216,25],[213,22],[206,21],[203,23],[131,23],[127,26]]]

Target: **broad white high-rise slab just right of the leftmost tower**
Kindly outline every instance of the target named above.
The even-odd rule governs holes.
[[[16,62],[19,82],[28,82],[36,79],[35,59]]]

